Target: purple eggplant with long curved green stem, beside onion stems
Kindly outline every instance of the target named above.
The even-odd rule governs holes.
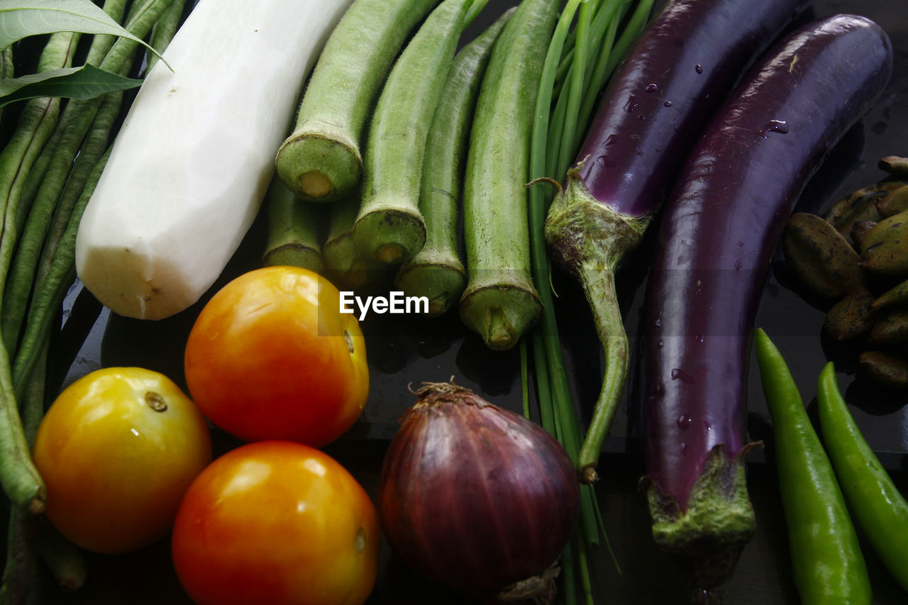
[[[553,256],[583,285],[605,377],[578,457],[597,478],[627,376],[615,271],[637,246],[709,117],[804,0],[673,0],[617,68],[546,220]]]

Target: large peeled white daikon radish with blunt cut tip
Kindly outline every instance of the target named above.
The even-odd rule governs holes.
[[[75,244],[111,311],[199,300],[262,203],[306,75],[350,0],[202,0],[117,135]]]

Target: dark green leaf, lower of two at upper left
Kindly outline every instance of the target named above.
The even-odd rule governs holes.
[[[35,96],[90,99],[99,94],[135,88],[141,84],[142,80],[123,77],[94,65],[65,67],[0,80],[0,107]]]

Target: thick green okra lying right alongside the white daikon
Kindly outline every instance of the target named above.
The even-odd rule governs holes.
[[[275,164],[291,191],[311,201],[360,185],[367,116],[395,56],[438,0],[355,0],[331,32]]]

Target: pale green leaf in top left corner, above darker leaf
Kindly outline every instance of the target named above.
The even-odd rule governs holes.
[[[151,50],[92,0],[3,0],[0,2],[0,49],[30,35],[54,32],[119,35]]]

